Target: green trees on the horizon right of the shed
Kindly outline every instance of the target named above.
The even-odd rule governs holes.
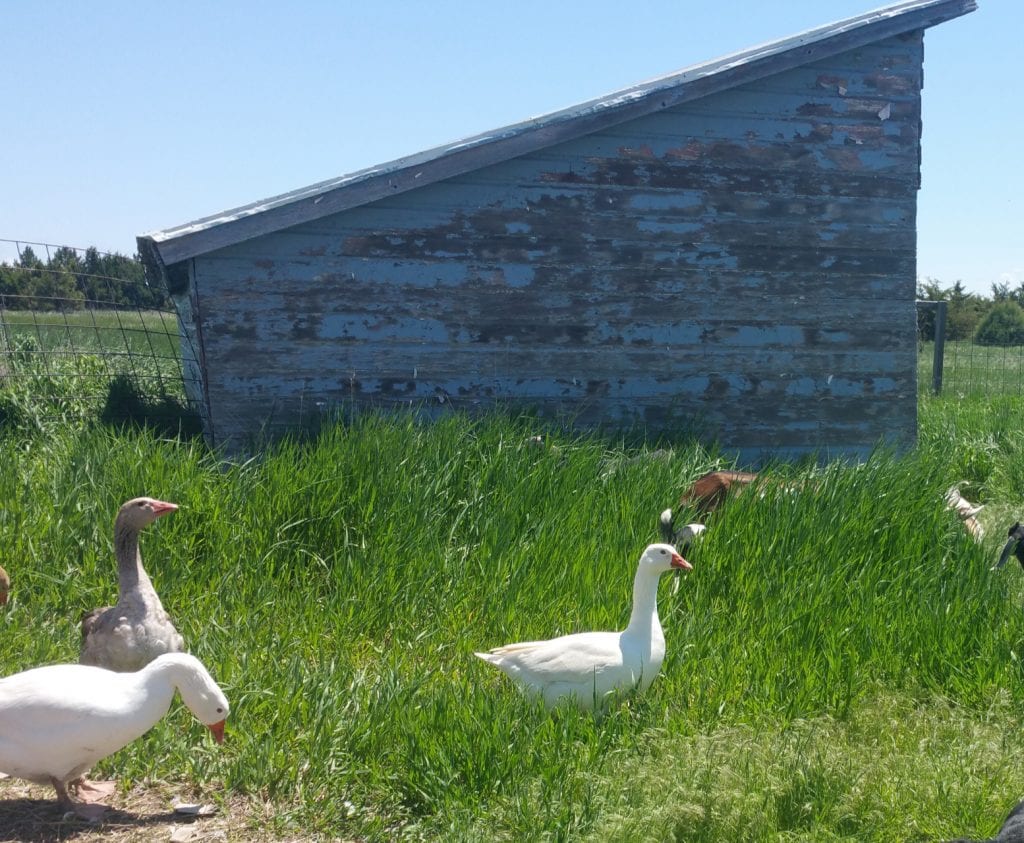
[[[968,293],[961,282],[942,287],[935,279],[918,285],[921,301],[946,302],[946,339],[973,340],[980,345],[1024,345],[1024,282],[991,286],[991,297]],[[935,309],[918,310],[918,332],[935,339]]]

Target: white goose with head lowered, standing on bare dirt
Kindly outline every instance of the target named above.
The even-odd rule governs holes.
[[[113,785],[104,790],[83,776],[153,728],[175,689],[222,743],[227,699],[203,664],[184,652],[161,656],[134,673],[51,665],[0,679],[0,772],[52,785],[65,807],[95,818],[105,808],[93,804],[92,794],[110,793]],[[82,793],[86,788],[89,795]]]

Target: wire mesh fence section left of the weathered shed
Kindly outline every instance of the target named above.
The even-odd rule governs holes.
[[[0,243],[18,255],[0,264],[0,425],[98,416],[200,429],[197,370],[183,365],[195,349],[173,300],[146,283],[138,261]]]

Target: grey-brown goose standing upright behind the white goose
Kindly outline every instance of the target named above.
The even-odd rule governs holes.
[[[177,508],[166,501],[133,498],[118,510],[114,521],[118,603],[83,616],[79,657],[83,665],[130,672],[165,652],[184,649],[184,641],[142,567],[138,550],[139,531]]]

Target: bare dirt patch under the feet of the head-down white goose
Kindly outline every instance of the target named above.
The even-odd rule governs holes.
[[[209,816],[175,813],[173,800],[216,806]],[[187,788],[152,785],[118,792],[97,824],[66,812],[51,788],[0,778],[0,843],[299,843],[322,838],[268,831],[272,808],[242,797],[195,793]]]

